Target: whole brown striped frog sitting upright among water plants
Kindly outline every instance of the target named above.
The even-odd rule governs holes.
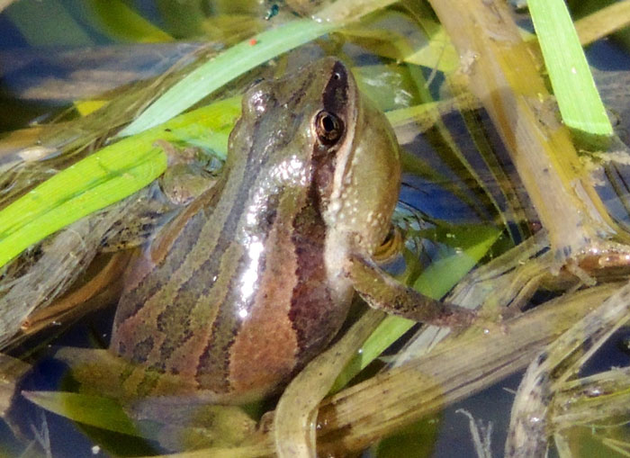
[[[241,402],[320,353],[354,292],[412,319],[470,319],[371,260],[400,183],[392,128],[338,60],[252,87],[220,182],[131,266],[111,351],[184,391]],[[145,391],[159,394],[151,380]]]

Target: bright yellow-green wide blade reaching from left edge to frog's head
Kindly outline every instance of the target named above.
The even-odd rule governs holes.
[[[101,149],[59,172],[0,211],[0,267],[49,234],[118,202],[166,169],[157,139],[195,142],[225,157],[240,113],[233,97],[178,116],[163,126]]]

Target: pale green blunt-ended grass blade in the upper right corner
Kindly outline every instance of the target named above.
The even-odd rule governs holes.
[[[564,123],[590,135],[612,135],[566,4],[563,0],[527,4]]]

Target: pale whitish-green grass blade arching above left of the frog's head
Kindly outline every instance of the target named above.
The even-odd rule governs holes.
[[[266,60],[314,40],[336,27],[338,25],[329,22],[299,20],[241,41],[185,76],[140,114],[136,121],[121,130],[119,136],[139,133],[172,118]]]

